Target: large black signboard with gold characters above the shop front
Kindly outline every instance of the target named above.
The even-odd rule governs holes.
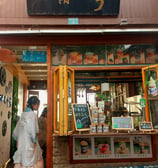
[[[120,0],[27,0],[28,15],[118,15]]]

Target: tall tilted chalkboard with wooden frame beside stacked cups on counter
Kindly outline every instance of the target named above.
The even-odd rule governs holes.
[[[88,104],[73,104],[73,116],[75,121],[76,130],[84,131],[90,130],[91,116]]]

